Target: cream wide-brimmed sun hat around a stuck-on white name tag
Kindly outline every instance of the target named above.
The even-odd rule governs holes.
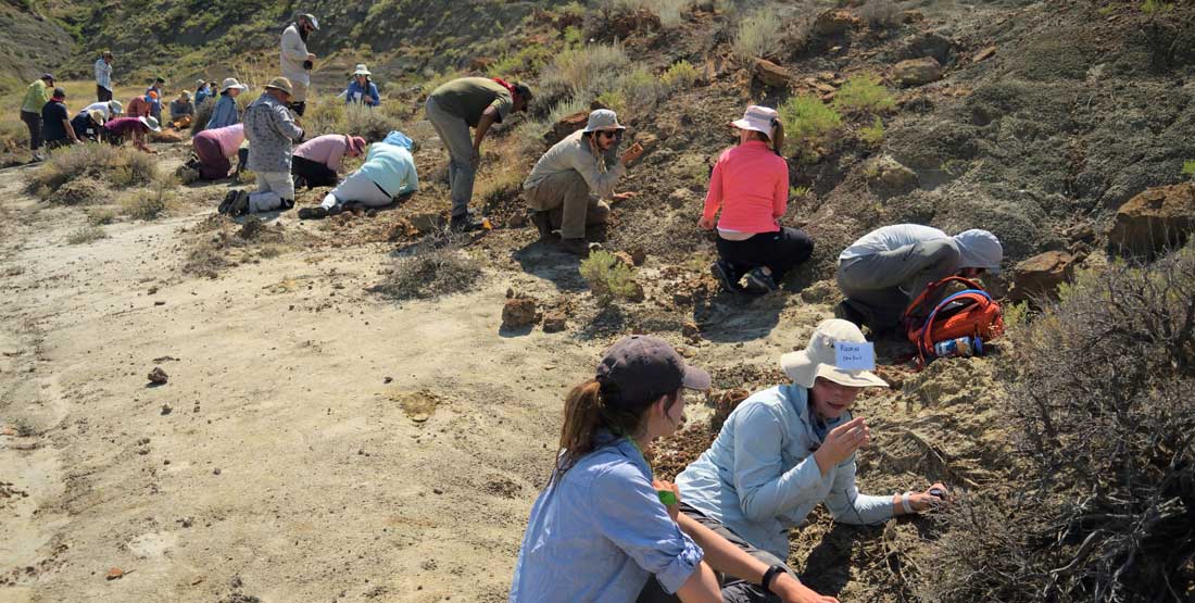
[[[844,370],[835,367],[838,358],[834,346],[838,342],[862,344],[866,338],[853,322],[823,320],[809,337],[809,345],[804,350],[780,356],[780,369],[793,383],[804,388],[814,387],[817,377],[848,387],[888,387],[884,380],[870,370]]]

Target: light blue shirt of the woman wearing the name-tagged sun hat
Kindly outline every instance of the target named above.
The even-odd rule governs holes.
[[[833,429],[850,420],[844,414]],[[709,450],[676,476],[681,500],[722,522],[747,542],[789,558],[789,528],[825,502],[834,519],[884,522],[891,497],[859,494],[854,456],[821,474],[814,450],[822,443],[810,419],[809,390],[777,386],[742,401]]]

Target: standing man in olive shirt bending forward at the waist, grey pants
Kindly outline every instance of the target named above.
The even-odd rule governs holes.
[[[452,80],[428,97],[424,105],[428,121],[435,127],[451,156],[448,180],[452,185],[453,230],[471,230],[477,226],[468,215],[468,201],[473,197],[473,178],[480,162],[485,134],[511,111],[525,111],[531,98],[531,88],[525,84],[508,84],[489,78]],[[474,129],[472,137],[470,128]]]

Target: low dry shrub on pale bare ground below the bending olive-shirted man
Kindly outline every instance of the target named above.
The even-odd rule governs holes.
[[[430,300],[468,290],[482,278],[482,267],[465,253],[464,239],[448,230],[425,236],[403,257],[372,293],[392,300]]]

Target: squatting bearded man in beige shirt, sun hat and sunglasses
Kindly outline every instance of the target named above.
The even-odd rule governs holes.
[[[626,165],[643,154],[636,146],[618,156],[625,129],[614,111],[599,109],[589,113],[584,129],[565,136],[539,158],[523,181],[523,195],[534,210],[532,222],[540,240],[550,240],[553,229],[559,228],[562,250],[588,256],[586,226],[605,223],[609,217],[609,205],[601,198],[635,195],[614,192]]]

